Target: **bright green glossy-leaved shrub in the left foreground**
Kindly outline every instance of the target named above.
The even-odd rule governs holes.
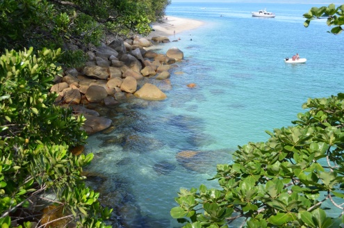
[[[34,202],[44,202],[47,192],[72,212],[79,227],[106,227],[102,220],[112,211],[102,208],[99,194],[84,186],[82,168],[93,154],[69,152],[69,147],[85,144],[84,118],[53,105],[56,94],[49,88],[60,72],[54,64],[59,55],[60,49],[35,55],[30,48],[6,51],[0,58],[1,227],[11,227],[12,219],[33,220]],[[21,225],[31,227],[30,222]]]

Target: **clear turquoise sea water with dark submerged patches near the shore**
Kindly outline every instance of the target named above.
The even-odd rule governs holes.
[[[156,50],[165,54],[178,47],[184,53],[185,61],[170,70],[171,88],[161,86],[167,99],[134,99],[103,110],[115,128],[88,140],[95,159],[86,171],[99,175],[90,184],[103,194],[103,204],[115,208],[113,227],[179,227],[170,217],[179,188],[216,187],[207,179],[217,163],[231,162],[238,145],[265,141],[265,130],[290,126],[309,97],[344,92],[344,35],[327,33],[325,19],[304,28],[302,15],[312,6],[167,7],[167,17],[204,22],[198,29],[172,35],[170,40],[181,40]],[[250,12],[263,8],[276,17],[252,17]],[[284,63],[295,53],[307,62]],[[188,83],[197,87],[190,89]],[[201,155],[192,165],[181,163],[176,156],[185,150]]]

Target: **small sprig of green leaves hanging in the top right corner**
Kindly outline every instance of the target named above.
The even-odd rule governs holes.
[[[308,13],[304,14],[304,17],[306,18],[306,21],[304,22],[305,27],[308,27],[313,19],[327,17],[327,25],[334,26],[329,33],[339,34],[343,31],[344,5],[338,6],[337,8],[334,4],[330,4],[328,7],[313,7]]]

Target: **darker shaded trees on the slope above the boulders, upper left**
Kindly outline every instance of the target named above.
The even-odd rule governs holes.
[[[168,0],[3,0],[0,51],[70,45],[85,51],[92,45],[99,46],[107,34],[147,35],[151,31],[149,23],[163,17],[169,3]]]

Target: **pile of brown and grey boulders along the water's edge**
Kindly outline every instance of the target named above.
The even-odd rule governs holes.
[[[163,100],[167,96],[155,84],[170,85],[170,72],[183,60],[183,51],[173,47],[166,54],[151,49],[159,43],[170,42],[165,36],[113,40],[108,45],[88,52],[88,62],[80,69],[70,68],[63,77],[56,76],[51,92],[57,92],[56,104],[72,107],[74,115],[86,119],[83,129],[92,135],[104,131],[112,121],[92,110],[92,104],[115,106],[137,97]]]

